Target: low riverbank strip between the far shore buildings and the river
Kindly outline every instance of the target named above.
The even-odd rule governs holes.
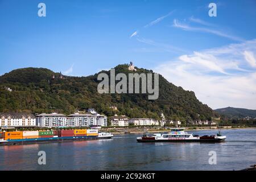
[[[237,130],[237,129],[256,129],[256,127],[232,127],[232,126],[224,126],[222,130]],[[185,127],[185,131],[201,131],[201,130],[218,130],[217,127]],[[102,132],[110,132],[112,134],[127,134],[127,133],[160,133],[167,132],[170,129],[163,128],[129,128],[129,129],[101,129]]]

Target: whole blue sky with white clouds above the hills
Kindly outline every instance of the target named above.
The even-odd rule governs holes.
[[[40,2],[46,17],[38,16]],[[208,15],[210,2],[217,17]],[[133,61],[214,109],[256,109],[255,7],[254,0],[0,0],[0,75],[43,67],[87,76]]]

